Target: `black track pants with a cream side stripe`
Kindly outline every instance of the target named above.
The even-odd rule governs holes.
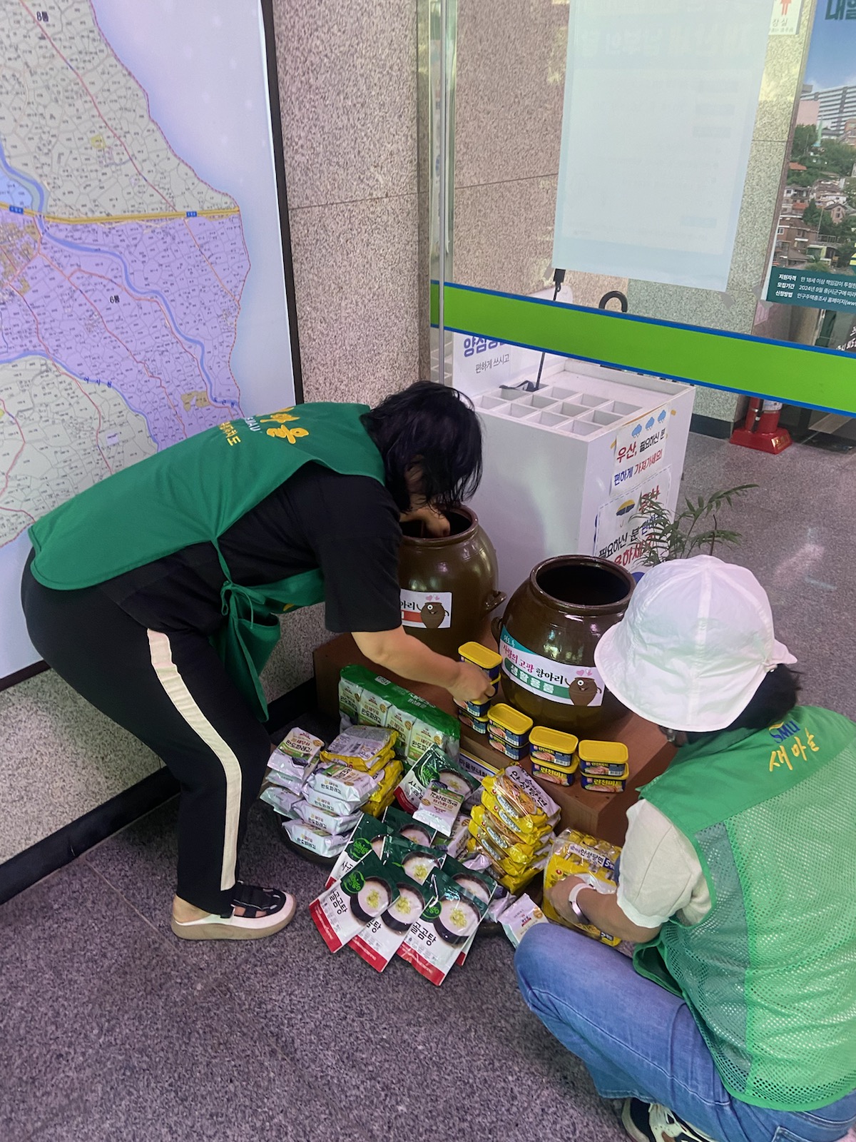
[[[270,741],[213,648],[192,632],[147,630],[97,587],[42,587],[29,563],[21,594],[45,661],[180,782],[178,895],[210,912],[231,911],[237,852]]]

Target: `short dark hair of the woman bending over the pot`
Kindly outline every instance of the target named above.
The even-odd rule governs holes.
[[[378,445],[386,483],[402,509],[410,507],[407,469],[421,469],[419,494],[444,509],[469,499],[482,478],[482,426],[473,402],[457,388],[420,380],[363,416]]]

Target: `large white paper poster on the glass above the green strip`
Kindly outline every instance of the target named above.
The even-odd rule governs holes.
[[[769,27],[762,0],[574,0],[555,266],[726,289]]]

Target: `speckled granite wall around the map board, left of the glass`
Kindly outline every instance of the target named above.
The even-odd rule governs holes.
[[[418,379],[417,6],[275,0],[306,400],[373,403]],[[283,620],[269,698],[312,676],[323,606]],[[0,862],[158,758],[53,671],[0,693]]]

